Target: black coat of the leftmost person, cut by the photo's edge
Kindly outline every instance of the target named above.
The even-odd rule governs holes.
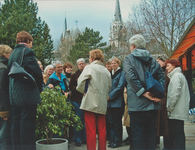
[[[0,57],[0,112],[10,110],[8,59]]]

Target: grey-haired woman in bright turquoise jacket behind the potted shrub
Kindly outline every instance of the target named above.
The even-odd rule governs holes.
[[[62,74],[63,67],[60,61],[56,61],[54,64],[55,72],[49,77],[46,85],[52,84],[54,87],[59,85],[63,95],[68,97],[69,91],[66,84],[66,76]]]

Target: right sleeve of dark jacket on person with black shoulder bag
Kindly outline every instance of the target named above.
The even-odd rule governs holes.
[[[26,49],[23,62],[26,63],[24,66],[25,69],[27,69],[27,72],[35,78],[39,92],[42,92],[43,75],[33,50]]]

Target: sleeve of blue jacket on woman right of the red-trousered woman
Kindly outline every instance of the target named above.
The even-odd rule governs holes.
[[[113,100],[117,96],[119,96],[119,93],[121,93],[121,91],[123,91],[125,84],[126,84],[126,79],[125,79],[125,75],[122,71],[117,87],[112,92],[110,92],[108,95],[110,100]]]

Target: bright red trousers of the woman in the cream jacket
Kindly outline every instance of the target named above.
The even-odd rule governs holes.
[[[105,115],[85,111],[84,117],[87,137],[87,150],[96,150],[96,124],[98,127],[98,150],[106,150]]]

